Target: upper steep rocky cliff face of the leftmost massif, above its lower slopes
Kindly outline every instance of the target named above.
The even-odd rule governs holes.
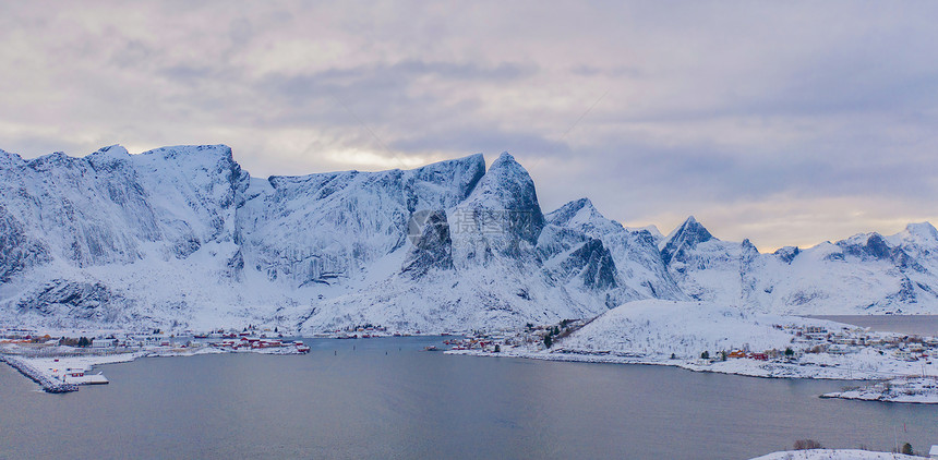
[[[130,264],[145,246],[185,257],[230,238],[240,168],[227,147],[180,147],[131,157],[120,146],[85,158],[52,154],[0,170],[9,221],[77,267]]]

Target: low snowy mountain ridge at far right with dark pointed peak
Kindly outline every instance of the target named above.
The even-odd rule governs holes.
[[[760,253],[720,241],[694,217],[662,242],[662,259],[692,299],[780,314],[938,313],[938,231],[912,223],[809,249]]]

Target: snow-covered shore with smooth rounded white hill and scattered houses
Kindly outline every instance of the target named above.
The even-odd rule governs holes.
[[[543,341],[548,336],[554,337],[550,349]],[[531,328],[489,347],[449,353],[862,380],[938,375],[933,341],[711,303],[650,300],[610,310],[581,328]]]

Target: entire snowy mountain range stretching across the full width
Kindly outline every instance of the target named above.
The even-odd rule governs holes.
[[[508,154],[252,178],[224,145],[0,150],[0,323],[303,331],[512,328],[641,299],[780,314],[938,313],[938,231],[762,254],[582,198],[543,214]]]

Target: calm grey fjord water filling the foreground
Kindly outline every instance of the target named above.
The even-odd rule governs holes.
[[[70,395],[0,366],[0,458],[748,459],[799,438],[888,449],[894,431],[938,444],[938,408],[817,398],[842,382],[420,351],[440,340],[144,359]]]

